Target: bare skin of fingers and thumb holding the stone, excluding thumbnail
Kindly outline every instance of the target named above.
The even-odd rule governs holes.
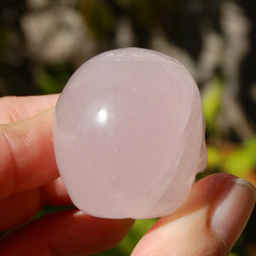
[[[57,98],[0,99],[0,232],[24,224],[43,206],[73,205],[53,153],[51,129]],[[252,191],[245,190],[240,198],[247,201],[244,216],[237,218],[229,236],[218,236],[209,220],[224,194],[224,184],[232,178],[216,174],[201,179],[183,207],[148,230],[132,256],[227,255],[255,203]],[[0,255],[92,255],[114,247],[132,224],[131,219],[95,218],[75,208],[49,213],[3,236]]]

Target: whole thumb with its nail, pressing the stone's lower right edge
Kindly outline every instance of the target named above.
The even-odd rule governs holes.
[[[227,255],[254,203],[251,183],[219,173],[195,183],[183,207],[160,218],[132,252],[138,255]]]

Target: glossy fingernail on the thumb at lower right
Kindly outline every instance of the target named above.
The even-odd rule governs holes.
[[[241,178],[231,178],[224,184],[212,208],[211,226],[224,241],[228,251],[234,246],[253,212],[256,189]]]

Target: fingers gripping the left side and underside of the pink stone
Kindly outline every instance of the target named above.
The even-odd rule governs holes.
[[[0,232],[26,223],[42,206],[72,206],[52,147],[57,98],[0,99]],[[116,245],[132,223],[77,209],[49,213],[3,236],[0,255],[91,255]]]

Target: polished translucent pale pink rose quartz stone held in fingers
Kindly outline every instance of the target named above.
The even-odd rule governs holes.
[[[179,61],[115,49],[79,67],[55,109],[57,166],[76,207],[155,218],[183,204],[207,164],[199,90]]]

